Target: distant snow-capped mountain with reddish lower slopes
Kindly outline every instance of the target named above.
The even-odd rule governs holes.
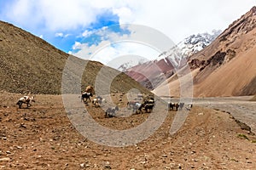
[[[219,34],[220,31],[212,31],[212,34],[192,35],[179,42],[174,48],[160,54],[157,59],[137,64],[131,68],[128,67],[128,69],[127,66],[131,64],[125,63],[119,67],[119,70],[125,71],[127,75],[143,84],[144,87],[154,89],[173,75],[174,68],[185,64],[192,54],[206,48]]]

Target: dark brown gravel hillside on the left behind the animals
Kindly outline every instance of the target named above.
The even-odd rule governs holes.
[[[62,72],[69,56],[43,39],[0,21],[0,90],[22,94],[61,94]],[[72,59],[73,68],[81,67],[84,70],[81,88],[94,85],[103,65],[76,57]],[[87,62],[85,67],[84,62]],[[73,68],[68,69],[73,71]],[[124,73],[104,68],[106,77],[117,75],[111,84],[112,91],[125,92],[137,88],[148,93],[146,88]],[[68,80],[70,82],[79,77],[73,73]],[[105,82],[102,82],[104,85]]]

